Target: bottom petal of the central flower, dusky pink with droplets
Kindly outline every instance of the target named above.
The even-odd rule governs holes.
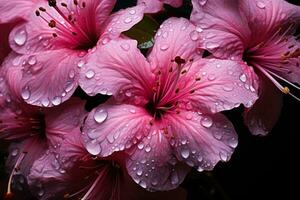
[[[163,131],[152,127],[150,135],[131,151],[127,171],[141,187],[165,191],[177,188],[189,168],[178,163]]]

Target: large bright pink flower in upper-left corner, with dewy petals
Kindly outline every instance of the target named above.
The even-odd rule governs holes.
[[[90,62],[98,46],[119,37],[143,17],[144,5],[110,15],[115,0],[67,2],[36,1],[26,22],[10,33],[16,53],[4,62],[7,79],[29,104],[50,107],[69,99],[78,86],[80,68]],[[1,9],[9,9],[10,4]],[[23,7],[15,9],[19,13]]]

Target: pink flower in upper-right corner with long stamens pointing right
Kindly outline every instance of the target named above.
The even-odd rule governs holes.
[[[267,134],[279,117],[281,93],[294,96],[278,80],[299,89],[291,82],[300,83],[300,45],[293,36],[300,7],[283,0],[193,1],[193,6],[191,19],[205,48],[218,58],[244,60],[249,66],[243,68],[251,66],[258,74],[260,98],[244,119],[253,134]]]

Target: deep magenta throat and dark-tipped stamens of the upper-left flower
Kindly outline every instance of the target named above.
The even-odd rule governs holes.
[[[83,11],[87,6],[85,1],[79,3],[73,0],[69,4],[58,5],[56,0],[48,0],[48,6],[48,10],[39,7],[35,14],[47,23],[53,38],[61,38],[72,49],[88,50],[97,44],[98,34],[92,31],[94,27],[89,29],[86,24],[86,20],[93,20],[83,19]]]

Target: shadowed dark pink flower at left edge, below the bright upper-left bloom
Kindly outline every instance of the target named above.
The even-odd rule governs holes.
[[[59,147],[60,141],[68,134],[80,133],[84,102],[79,99],[53,108],[40,109],[15,101],[16,98],[5,90],[0,79],[0,141],[16,142],[10,151],[8,165],[11,175],[7,194],[11,194],[11,183],[16,174],[29,174],[33,162],[45,154],[47,148]]]

